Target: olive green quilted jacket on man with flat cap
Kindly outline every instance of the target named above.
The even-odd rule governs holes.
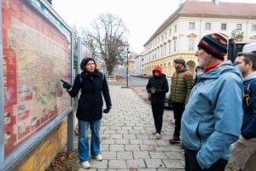
[[[184,77],[185,71],[188,72],[187,76]],[[172,102],[187,104],[192,85],[193,74],[189,71],[189,67],[186,66],[183,71],[177,71],[176,74],[173,74],[169,100]]]

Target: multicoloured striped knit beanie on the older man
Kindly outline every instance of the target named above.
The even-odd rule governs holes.
[[[224,60],[228,48],[227,39],[218,33],[208,34],[201,38],[197,47],[204,49],[212,57],[218,58],[218,60]]]

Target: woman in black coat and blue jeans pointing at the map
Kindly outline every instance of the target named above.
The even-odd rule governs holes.
[[[67,88],[67,93],[71,97],[78,95],[81,90],[76,113],[79,119],[79,160],[83,168],[90,168],[90,155],[97,161],[102,161],[100,153],[102,94],[107,106],[103,110],[104,113],[110,111],[112,104],[106,77],[97,68],[96,61],[93,58],[84,58],[81,61],[80,68],[82,73],[75,77],[73,86],[63,80],[61,82],[63,88]],[[87,133],[89,126],[91,130],[90,146]]]

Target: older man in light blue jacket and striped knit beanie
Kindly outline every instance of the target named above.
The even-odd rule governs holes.
[[[226,53],[227,40],[218,33],[202,37],[195,52],[204,73],[182,117],[186,171],[224,171],[231,144],[240,136],[242,77],[230,60],[224,61]]]

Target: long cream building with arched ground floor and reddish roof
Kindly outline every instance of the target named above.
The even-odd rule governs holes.
[[[227,39],[231,32],[242,31],[242,41],[256,41],[256,3],[216,3],[185,1],[144,44],[143,74],[161,66],[172,76],[172,61],[183,58],[191,71],[197,65],[195,51],[201,37],[212,32]]]

